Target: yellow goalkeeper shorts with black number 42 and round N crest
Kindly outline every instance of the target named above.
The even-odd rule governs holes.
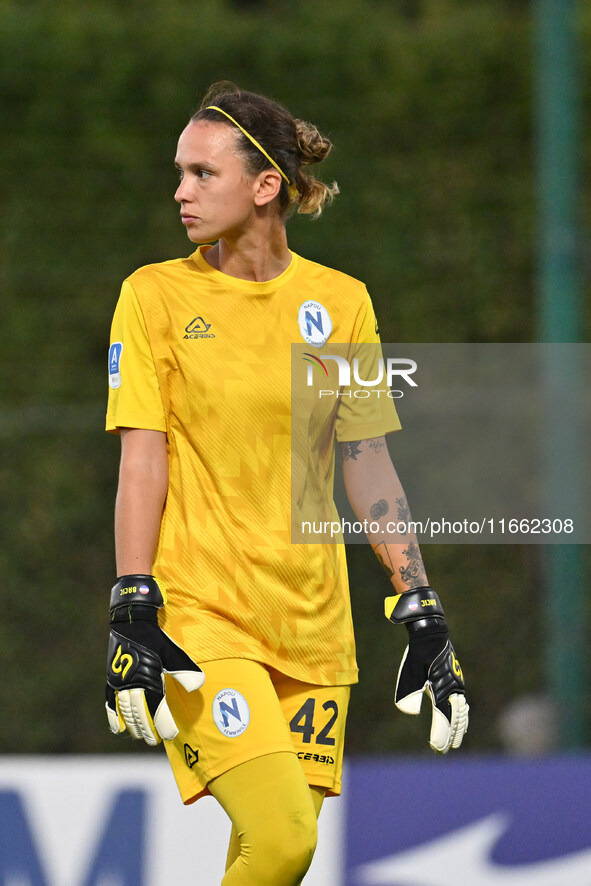
[[[310,785],[340,794],[350,686],[301,683],[246,659],[200,667],[196,692],[166,678],[179,734],[164,745],[183,803],[234,766],[281,751],[297,754]]]

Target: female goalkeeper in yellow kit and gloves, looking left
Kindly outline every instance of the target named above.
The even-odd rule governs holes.
[[[273,101],[214,85],[176,154],[181,222],[210,245],[133,273],[112,325],[107,715],[113,732],[164,739],[185,803],[210,793],[226,810],[224,886],[300,883],[324,797],[340,792],[357,681],[344,545],[292,536],[303,515],[336,516],[335,438],[393,585],[386,614],[409,632],[396,703],[416,713],[430,695],[437,751],[467,727],[418,547],[382,534],[406,508],[384,442],[392,400],[319,396],[319,376],[338,387],[335,353],[369,365],[379,349],[363,284],[287,244],[288,217],[338,192],[308,171],[330,149]]]

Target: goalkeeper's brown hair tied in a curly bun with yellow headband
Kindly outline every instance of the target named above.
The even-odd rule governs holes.
[[[324,184],[305,172],[303,167],[324,160],[330,153],[332,142],[321,135],[312,123],[297,120],[277,102],[239,89],[227,80],[210,86],[201,102],[201,108],[191,117],[191,122],[211,120],[233,126],[227,117],[209,108],[209,105],[215,105],[230,114],[261,144],[285,173],[290,184],[295,185],[297,194],[290,197],[287,182],[282,181],[279,192],[282,214],[287,216],[297,209],[299,213],[318,218],[324,206],[331,203],[339,193],[339,187],[336,182]],[[256,175],[271,167],[267,157],[239,129],[236,131],[240,135],[239,149],[248,171]]]

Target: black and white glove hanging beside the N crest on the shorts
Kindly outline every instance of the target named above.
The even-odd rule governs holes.
[[[107,719],[149,745],[173,739],[178,728],[166,702],[164,675],[187,692],[205,680],[201,668],[158,625],[162,592],[151,575],[124,575],[111,590],[107,656]]]

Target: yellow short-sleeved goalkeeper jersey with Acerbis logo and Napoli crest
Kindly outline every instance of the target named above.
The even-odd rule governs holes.
[[[333,343],[349,358],[379,347],[371,301],[359,281],[295,253],[256,283],[214,269],[209,248],[133,273],[111,330],[107,430],[167,435],[160,623],[197,662],[247,658],[309,683],[353,683],[344,545],[293,543],[292,522],[310,507],[336,518],[335,438],[399,427],[388,398],[368,408],[329,396]]]

